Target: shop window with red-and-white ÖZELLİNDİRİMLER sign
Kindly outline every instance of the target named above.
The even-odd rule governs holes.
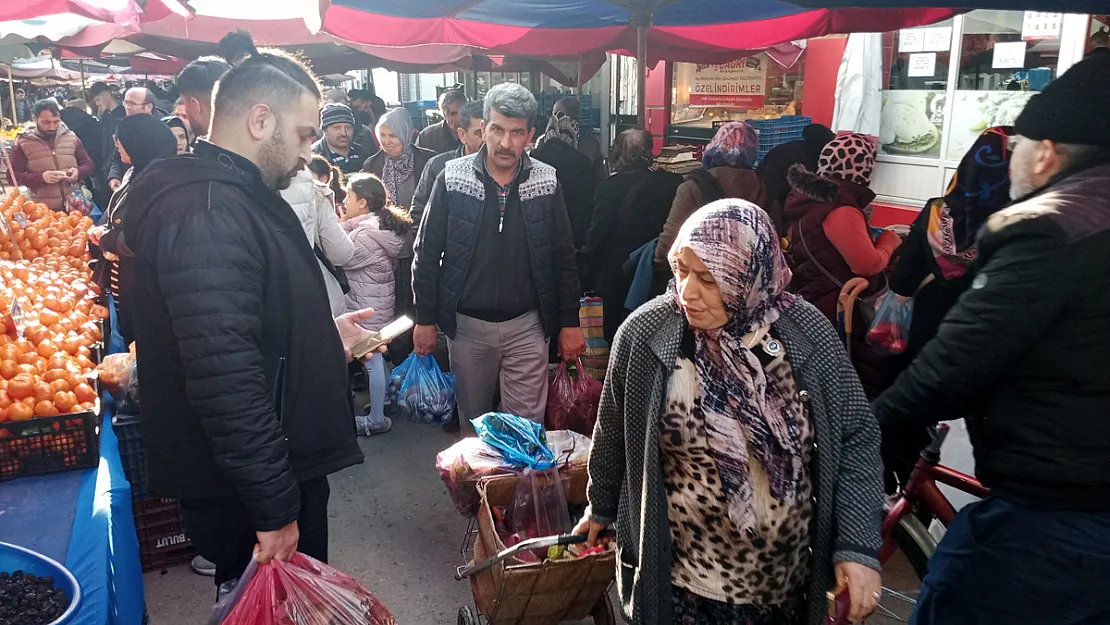
[[[805,114],[806,51],[785,44],[723,65],[675,63],[670,123],[713,128],[714,122]]]

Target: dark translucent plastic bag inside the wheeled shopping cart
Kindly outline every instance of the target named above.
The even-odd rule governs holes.
[[[516,481],[513,496],[513,535],[505,546],[543,536],[555,536],[571,531],[571,510],[566,504],[566,487],[557,468],[525,468]],[[516,557],[524,562],[539,562],[545,553],[524,552]]]

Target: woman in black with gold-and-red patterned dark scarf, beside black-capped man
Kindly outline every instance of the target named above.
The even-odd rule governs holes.
[[[890,276],[891,291],[914,298],[906,351],[891,359],[891,381],[937,334],[949,309],[971,284],[968,265],[978,252],[976,234],[990,215],[1010,203],[1010,127],[985,131],[963,155],[948,192],[929,200],[914,221]],[[925,429],[884,431],[888,491],[906,483],[928,443]]]

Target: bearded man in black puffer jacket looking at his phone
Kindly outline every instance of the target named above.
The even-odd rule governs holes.
[[[252,53],[216,85],[210,140],[145,169],[124,216],[150,488],[181,501],[218,585],[255,544],[263,562],[326,560],[327,475],[363,461],[344,355],[359,332],[332,320],[278,193],[312,157],[319,105],[300,62]]]

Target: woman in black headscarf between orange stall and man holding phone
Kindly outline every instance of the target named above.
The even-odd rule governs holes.
[[[134,340],[131,316],[131,263],[134,254],[123,236],[123,220],[127,219],[128,193],[131,181],[157,159],[168,159],[178,154],[178,140],[170,127],[158,118],[142,113],[120,120],[115,129],[115,144],[120,160],[128,165],[120,188],[112,194],[101,221],[104,225],[89,232],[89,239],[100,246],[102,258],[98,261],[97,281],[108,286],[115,300],[117,320],[120,334],[130,344]],[[103,268],[103,269],[101,269]]]

